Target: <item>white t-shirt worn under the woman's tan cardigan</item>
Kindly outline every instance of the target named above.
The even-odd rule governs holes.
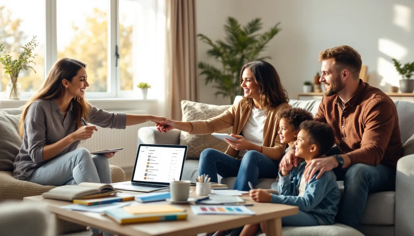
[[[256,107],[252,108],[249,119],[241,131],[241,136],[246,138],[250,143],[262,146],[263,145],[263,126],[265,126],[266,114],[263,109]],[[241,150],[238,153],[239,157],[243,157],[247,150]]]

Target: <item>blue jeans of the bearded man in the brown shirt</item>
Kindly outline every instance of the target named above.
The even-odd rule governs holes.
[[[339,151],[332,148],[327,156],[333,154],[339,154]],[[395,189],[395,172],[382,164],[353,164],[348,168],[333,171],[337,181],[344,181],[344,195],[337,219],[340,223],[354,228],[361,221],[368,194]]]

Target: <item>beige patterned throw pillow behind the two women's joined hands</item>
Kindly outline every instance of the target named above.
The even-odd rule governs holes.
[[[181,111],[183,112],[183,121],[205,120],[216,117],[229,109],[232,105],[209,105],[205,103],[195,103],[187,100],[181,101]],[[225,129],[218,133],[231,133],[232,128]],[[188,145],[187,159],[200,159],[202,150],[214,148],[219,151],[226,151],[229,146],[226,142],[215,138],[211,134],[192,135],[181,131],[180,145]]]

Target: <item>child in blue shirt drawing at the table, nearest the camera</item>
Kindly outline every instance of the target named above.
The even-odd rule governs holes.
[[[299,207],[297,215],[283,217],[282,226],[317,226],[333,224],[341,197],[333,171],[322,174],[316,179],[315,174],[308,183],[302,178],[306,163],[327,153],[334,144],[334,131],[331,126],[321,122],[304,121],[294,142],[295,155],[302,157],[297,167],[282,167],[279,171],[279,195],[269,190],[253,189],[250,197],[256,202],[280,203]],[[244,226],[241,236],[253,236],[259,224]],[[266,233],[265,222],[260,223],[262,232]]]

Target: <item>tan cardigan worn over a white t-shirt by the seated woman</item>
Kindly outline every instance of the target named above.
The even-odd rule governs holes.
[[[290,105],[287,103],[280,104],[269,111],[265,120],[265,125],[263,127],[262,153],[272,160],[280,160],[285,149],[285,144],[280,143],[277,131],[279,131],[279,112],[289,107]],[[251,109],[248,110],[245,105],[242,106],[241,102],[239,102],[237,105],[231,106],[217,117],[207,120],[190,121],[193,126],[193,131],[191,131],[190,134],[217,133],[233,126],[231,133],[240,135],[251,112]],[[237,157],[239,151],[231,148],[229,145],[225,153],[232,157]]]

